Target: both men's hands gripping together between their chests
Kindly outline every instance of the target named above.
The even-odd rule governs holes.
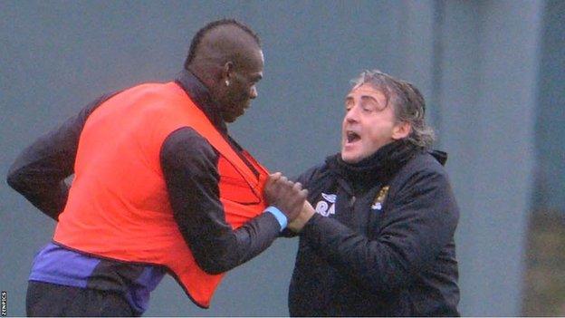
[[[292,182],[281,172],[269,175],[263,188],[263,197],[270,206],[277,207],[288,219],[287,228],[300,232],[314,215],[314,208],[306,201],[308,190],[300,182]]]

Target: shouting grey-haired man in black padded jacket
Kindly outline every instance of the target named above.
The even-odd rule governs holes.
[[[341,152],[297,179],[311,205],[289,225],[300,232],[291,315],[459,315],[459,211],[445,153],[428,150],[424,98],[363,72],[345,109]]]

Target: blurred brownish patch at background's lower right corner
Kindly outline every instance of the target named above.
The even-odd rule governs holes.
[[[522,315],[565,316],[565,213],[531,214]]]

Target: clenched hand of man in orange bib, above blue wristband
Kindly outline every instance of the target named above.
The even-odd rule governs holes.
[[[289,222],[301,213],[307,196],[308,190],[302,189],[300,182],[294,183],[280,172],[270,175],[263,189],[267,204],[280,209]]]

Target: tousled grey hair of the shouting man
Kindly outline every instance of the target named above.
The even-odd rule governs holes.
[[[397,122],[405,121],[412,127],[407,141],[426,149],[432,146],[436,134],[426,124],[426,101],[412,83],[398,80],[378,70],[361,72],[352,82],[354,88],[368,83],[385,95],[387,106],[388,103],[393,105]]]

